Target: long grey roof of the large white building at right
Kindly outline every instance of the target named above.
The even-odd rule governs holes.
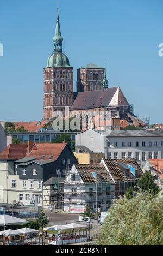
[[[109,137],[159,137],[163,136],[163,131],[148,131],[148,130],[111,130],[106,131],[94,130]]]

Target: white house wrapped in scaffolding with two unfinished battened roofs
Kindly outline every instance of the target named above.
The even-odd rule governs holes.
[[[106,211],[143,175],[135,159],[102,159],[100,164],[74,164],[64,183],[64,210],[89,205]]]

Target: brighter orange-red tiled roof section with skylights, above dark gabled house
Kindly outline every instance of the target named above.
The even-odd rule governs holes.
[[[30,153],[27,154],[27,157],[36,157],[37,160],[55,161],[58,159],[66,145],[67,143],[36,143]]]

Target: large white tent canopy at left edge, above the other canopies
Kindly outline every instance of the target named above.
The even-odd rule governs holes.
[[[26,223],[28,223],[26,219],[20,219],[20,218],[12,217],[10,215],[6,215],[6,214],[0,215],[0,226],[26,224]]]

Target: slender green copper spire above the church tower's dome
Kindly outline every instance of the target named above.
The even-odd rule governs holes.
[[[62,42],[63,38],[61,36],[61,30],[60,30],[60,22],[59,22],[59,13],[57,9],[57,21],[55,26],[55,35],[53,37],[54,42],[54,52],[62,52]]]

